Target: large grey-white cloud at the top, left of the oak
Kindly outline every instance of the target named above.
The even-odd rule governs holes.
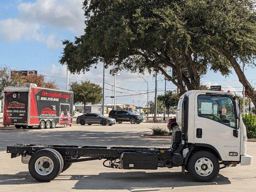
[[[20,3],[22,18],[45,23],[53,27],[84,32],[83,0],[36,0]]]

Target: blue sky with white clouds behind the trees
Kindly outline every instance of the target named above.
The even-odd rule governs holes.
[[[62,40],[73,40],[74,36],[83,34],[84,16],[82,0],[1,0],[0,1],[0,67],[10,66],[12,70],[38,70],[38,74],[46,75],[47,80],[56,80],[58,86],[65,89],[66,67],[59,64],[62,52]],[[98,64],[86,74],[71,75],[71,81],[88,80],[102,85],[103,65]],[[252,86],[256,84],[255,68],[246,66],[246,77]],[[147,89],[146,83],[138,74],[126,71],[119,72],[117,96],[141,93]],[[149,90],[154,89],[154,78],[145,72],[143,76],[149,82]],[[113,84],[114,78],[106,70],[106,82]],[[201,78],[201,83],[222,85],[224,90],[242,91],[236,74],[228,77],[220,73],[208,71]],[[112,86],[106,85],[106,89]],[[176,87],[167,82],[168,90]],[[164,77],[158,76],[159,93],[164,90]],[[149,100],[153,100],[154,93],[150,93]],[[106,96],[112,91],[106,90]],[[117,97],[119,104],[146,104],[146,94],[138,96]],[[106,98],[111,104],[111,99]]]

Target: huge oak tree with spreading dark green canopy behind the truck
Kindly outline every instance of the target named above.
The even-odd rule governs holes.
[[[228,75],[233,67],[256,104],[238,64],[254,60],[253,8],[250,0],[85,0],[85,33],[63,42],[60,62],[73,73],[99,61],[111,72],[157,71],[181,94],[183,83],[188,90],[200,89],[208,69]],[[168,75],[167,67],[176,75]]]

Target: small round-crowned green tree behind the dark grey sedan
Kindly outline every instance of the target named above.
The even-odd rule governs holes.
[[[74,103],[82,103],[86,106],[89,103],[92,105],[99,104],[102,100],[102,88],[90,81],[82,81],[81,84],[72,82],[70,90],[74,92]]]

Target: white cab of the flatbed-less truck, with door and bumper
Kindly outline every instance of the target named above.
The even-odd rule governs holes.
[[[180,97],[176,122],[189,144],[210,150],[225,166],[250,165],[246,154],[246,128],[232,93],[188,91]]]

